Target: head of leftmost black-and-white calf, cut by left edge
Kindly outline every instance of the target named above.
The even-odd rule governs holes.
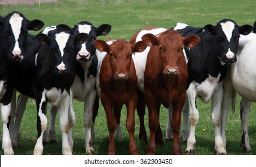
[[[19,12],[13,12],[6,17],[0,18],[0,30],[4,33],[5,49],[11,60],[20,61],[23,59],[23,52],[26,50],[26,39],[28,30],[40,30],[44,26],[41,20],[29,21]]]

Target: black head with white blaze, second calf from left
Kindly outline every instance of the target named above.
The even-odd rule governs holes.
[[[56,30],[51,31],[50,36],[44,33],[36,35],[40,44],[49,46],[56,66],[55,70],[60,75],[72,70],[75,60],[74,45],[83,44],[87,38],[86,33],[78,33],[74,36],[72,29],[65,24],[58,25]]]

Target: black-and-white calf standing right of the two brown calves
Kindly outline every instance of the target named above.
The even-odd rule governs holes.
[[[186,26],[179,28],[182,36],[197,35],[201,42],[197,47],[186,50],[188,59],[187,100],[184,106],[182,140],[187,140],[186,154],[194,154],[196,146],[195,128],[199,120],[196,98],[207,103],[212,99],[212,122],[215,129],[215,150],[217,154],[227,151],[221,138],[221,101],[223,99],[223,79],[226,64],[236,62],[237,45],[240,34],[248,35],[252,27],[237,26],[233,20],[221,20],[216,26]],[[188,128],[190,119],[190,132]]]

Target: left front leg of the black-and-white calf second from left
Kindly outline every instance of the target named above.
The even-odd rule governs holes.
[[[33,150],[34,155],[41,155],[42,151],[44,150],[44,146],[42,145],[42,137],[44,135],[44,131],[47,128],[47,117],[45,116],[46,113],[46,92],[42,91],[41,94],[38,93],[36,95],[36,107],[37,107],[37,132],[38,132],[38,139],[35,144],[35,148]]]

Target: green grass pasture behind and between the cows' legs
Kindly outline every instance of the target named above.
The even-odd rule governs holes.
[[[147,26],[157,26],[170,28],[180,21],[191,26],[203,27],[206,24],[215,25],[223,18],[231,18],[237,24],[253,24],[256,20],[256,2],[254,0],[240,1],[206,1],[206,0],[60,0],[57,4],[38,5],[4,5],[0,10],[0,16],[5,16],[11,11],[22,12],[29,20],[35,18],[44,21],[45,26],[57,24],[68,24],[73,26],[80,21],[90,21],[96,27],[100,24],[111,24],[112,30],[107,36],[100,36],[98,39],[127,39],[139,29]],[[31,32],[36,34],[38,32]],[[29,74],[28,74],[29,75]],[[240,97],[237,98],[236,111],[228,113],[226,127],[227,154],[256,154],[256,117],[255,104],[251,107],[249,115],[248,131],[251,143],[250,152],[244,152],[240,147]],[[83,123],[84,103],[75,101],[74,107],[77,121],[74,125],[74,154],[85,154],[84,136],[85,129]],[[214,126],[211,119],[211,101],[205,104],[197,100],[200,119],[196,128],[196,154],[214,155]],[[47,114],[47,116],[49,116]],[[129,154],[129,135],[125,126],[126,108],[123,107],[121,115],[121,127],[123,129],[124,140],[116,141],[117,154]],[[165,138],[165,128],[167,122],[167,112],[164,107],[160,112],[160,126]],[[145,116],[146,130],[149,137],[148,115]],[[2,144],[2,123],[0,125]],[[106,117],[103,107],[100,104],[99,115],[96,117],[95,154],[107,154],[108,150],[108,129],[106,128]],[[181,125],[182,128],[182,125]],[[206,131],[203,131],[206,129]],[[56,125],[57,140],[56,145],[44,147],[43,154],[62,154],[62,139],[59,128],[59,120]],[[139,119],[136,115],[136,144],[139,154],[145,154],[147,145],[138,140]],[[33,154],[33,147],[36,143],[36,104],[34,100],[29,100],[21,126],[21,146],[14,149],[15,154]],[[182,152],[186,148],[185,142],[181,141]],[[0,154],[4,154],[0,150]],[[164,141],[164,146],[157,146],[156,154],[172,154],[172,141]]]

